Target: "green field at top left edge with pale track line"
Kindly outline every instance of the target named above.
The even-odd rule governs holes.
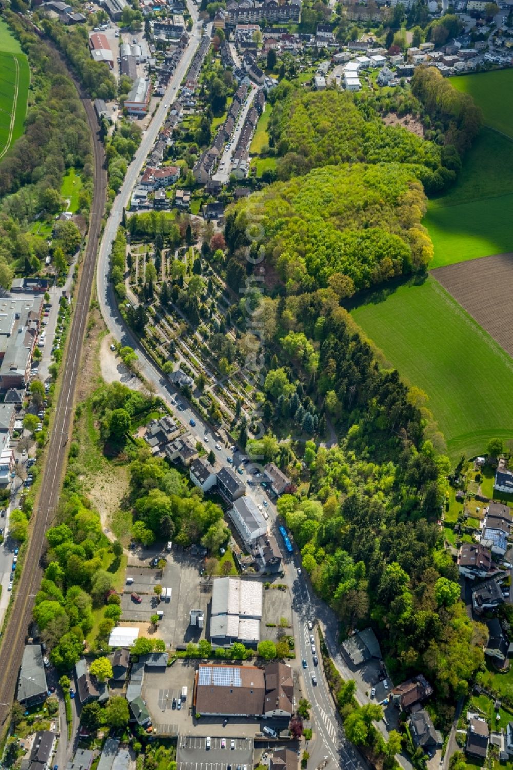
[[[0,19],[0,158],[22,136],[29,85],[27,57]]]

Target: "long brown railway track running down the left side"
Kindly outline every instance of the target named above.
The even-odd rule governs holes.
[[[66,444],[72,430],[75,385],[79,373],[92,281],[96,268],[96,254],[102,227],[102,214],[106,202],[105,154],[98,138],[99,126],[92,102],[80,92],[80,89],[79,93],[91,129],[95,159],[95,187],[89,222],[89,237],[82,263],[82,275],[69,332],[62,372],[62,386],[55,407],[55,420],[49,440],[42,486],[32,514],[32,531],[25,554],[22,576],[13,592],[11,613],[0,648],[0,671],[2,671],[0,677],[0,734],[2,735],[8,728],[8,716],[12,701],[15,698],[15,687],[22,662],[25,637],[28,634],[28,626],[32,619],[34,597],[39,591],[42,580],[41,562],[42,554],[45,551],[45,531],[52,524],[52,518],[59,502],[62,473],[68,449]]]

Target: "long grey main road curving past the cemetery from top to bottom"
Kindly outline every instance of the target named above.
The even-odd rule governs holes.
[[[146,133],[142,137],[141,145],[126,172],[122,189],[116,197],[109,219],[106,223],[102,242],[99,246],[99,261],[96,274],[98,299],[102,316],[109,332],[123,345],[129,345],[136,351],[139,360],[140,373],[146,380],[153,383],[156,394],[163,398],[163,400],[173,408],[176,419],[187,427],[188,430],[191,430],[193,436],[196,437],[196,439],[201,440],[209,450],[212,449],[215,451],[216,461],[219,464],[226,466],[229,464],[228,458],[230,458],[230,460],[233,458],[233,466],[240,467],[243,471],[241,480],[246,482],[256,468],[254,466],[244,467],[241,464],[242,456],[238,453],[234,453],[230,449],[229,444],[223,443],[219,440],[218,436],[213,434],[211,427],[199,417],[199,414],[189,406],[186,400],[179,394],[178,390],[169,383],[168,378],[156,368],[146,351],[139,344],[136,336],[129,330],[126,323],[122,320],[112,284],[109,282],[110,249],[112,240],[115,238],[117,229],[121,223],[122,209],[129,204],[132,188],[136,183],[136,179],[146,160],[146,156],[153,147],[153,142],[155,142],[159,129],[166,118],[167,109],[169,109],[169,105],[173,99],[176,98],[179,85],[182,82],[183,76],[186,74],[189,63],[193,59],[194,52],[199,46],[200,31],[197,25],[196,7],[190,0],[188,0],[188,6],[194,23],[189,45],[176,69],[173,79],[169,83],[166,95],[163,97],[153,121],[149,124],[149,128],[146,129]],[[191,420],[195,423],[193,427],[191,427]],[[253,476],[253,485],[246,487],[246,494],[249,497],[253,497],[253,499],[257,501],[257,504],[261,504],[263,500],[268,500],[267,493],[260,487],[259,477]],[[270,500],[268,500],[267,511],[269,511],[270,514],[270,524],[274,527],[277,513]],[[279,535],[277,536],[277,540],[280,542]],[[285,570],[285,580],[287,581],[292,597],[291,611],[293,615],[294,636],[298,644],[298,658],[299,661],[303,660],[303,658],[308,661],[307,671],[303,671],[303,695],[305,695],[313,706],[312,718],[314,721],[314,740],[309,746],[309,751],[313,760],[312,764],[318,766],[321,762],[324,762],[324,759],[326,758],[327,768],[343,767],[347,768],[347,770],[357,770],[357,768],[364,765],[364,760],[344,737],[343,728],[340,725],[340,720],[334,709],[334,703],[327,688],[327,684],[324,681],[321,665],[316,667],[317,686],[314,686],[311,680],[311,674],[314,671],[314,663],[310,651],[310,632],[307,629],[307,622],[314,618],[317,618],[320,623],[320,628],[323,629],[330,654],[334,657],[334,661],[340,674],[346,679],[354,678],[354,672],[349,671],[340,657],[340,653],[338,653],[337,618],[335,614],[327,608],[327,605],[324,604],[324,602],[320,601],[317,597],[310,595],[305,577],[299,575],[297,572],[297,567],[300,566],[299,560],[297,562],[290,560],[285,562],[283,566]],[[356,695],[358,701],[362,703],[368,702],[367,694],[361,683],[357,683]],[[402,758],[400,758],[400,761],[401,764],[404,765]]]

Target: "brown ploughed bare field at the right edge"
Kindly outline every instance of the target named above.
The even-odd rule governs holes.
[[[431,276],[513,357],[513,253],[438,267]]]

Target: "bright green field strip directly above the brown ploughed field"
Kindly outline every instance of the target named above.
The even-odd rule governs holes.
[[[511,251],[512,210],[513,194],[461,206],[441,207],[439,201],[429,201],[422,223],[434,246],[430,268]]]

